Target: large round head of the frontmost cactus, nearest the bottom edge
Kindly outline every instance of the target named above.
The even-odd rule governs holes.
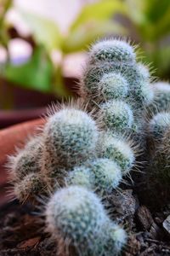
[[[94,247],[107,219],[99,198],[87,189],[71,186],[55,192],[46,207],[48,232],[77,248],[78,255],[86,255]]]

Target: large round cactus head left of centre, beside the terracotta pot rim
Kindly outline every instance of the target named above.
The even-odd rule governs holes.
[[[88,113],[75,108],[54,113],[43,131],[42,168],[53,176],[59,168],[71,169],[88,160],[95,152],[98,134],[97,125]]]

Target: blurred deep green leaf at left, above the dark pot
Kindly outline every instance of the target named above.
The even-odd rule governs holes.
[[[4,76],[11,82],[28,89],[50,92],[53,64],[43,46],[34,50],[31,59],[23,65],[9,63]]]

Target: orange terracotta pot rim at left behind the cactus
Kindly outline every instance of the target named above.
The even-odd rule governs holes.
[[[39,132],[37,127],[43,125],[44,122],[44,119],[35,119],[0,131],[0,206],[8,200],[5,191],[8,176],[4,166],[8,154],[13,154],[15,147],[22,147],[26,142],[26,137],[37,134]]]

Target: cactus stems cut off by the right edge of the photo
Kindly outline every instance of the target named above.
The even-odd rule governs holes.
[[[150,119],[147,126],[150,143],[149,181],[155,181],[164,190],[168,190],[170,182],[170,84],[156,82],[153,84],[153,90],[155,96],[154,102],[149,106]],[[169,190],[167,193],[169,194]]]

